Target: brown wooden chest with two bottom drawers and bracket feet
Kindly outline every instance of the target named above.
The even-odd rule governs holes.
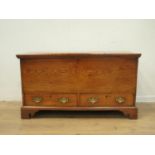
[[[22,118],[40,110],[118,110],[137,118],[138,53],[22,54]]]

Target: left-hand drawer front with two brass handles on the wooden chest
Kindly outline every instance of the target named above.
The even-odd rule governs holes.
[[[26,106],[73,107],[77,105],[76,94],[25,94]]]

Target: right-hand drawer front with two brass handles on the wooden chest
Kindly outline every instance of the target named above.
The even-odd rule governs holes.
[[[122,107],[133,106],[133,95],[128,94],[81,94],[78,106],[81,107]]]

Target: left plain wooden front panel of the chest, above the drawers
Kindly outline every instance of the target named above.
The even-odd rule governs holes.
[[[22,60],[23,91],[76,92],[75,59]]]

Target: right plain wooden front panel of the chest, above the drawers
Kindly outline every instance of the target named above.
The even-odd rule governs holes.
[[[78,61],[79,92],[135,93],[136,74],[135,58],[81,58]]]

